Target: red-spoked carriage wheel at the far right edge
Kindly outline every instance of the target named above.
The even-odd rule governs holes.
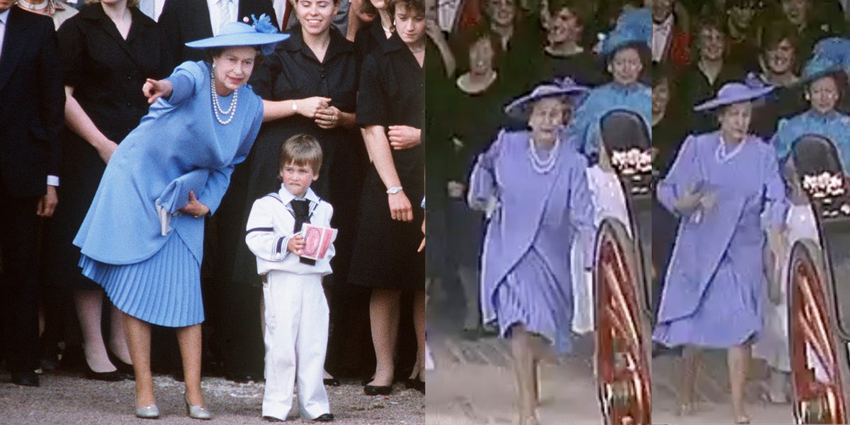
[[[847,423],[836,331],[830,319],[819,250],[796,244],[791,252],[789,302],[791,377],[797,423]],[[819,377],[815,375],[819,366]]]

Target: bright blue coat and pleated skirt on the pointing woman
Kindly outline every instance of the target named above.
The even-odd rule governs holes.
[[[151,105],[113,153],[74,245],[83,275],[104,286],[118,309],[156,325],[190,326],[204,318],[204,219],[171,213],[186,205],[189,190],[215,212],[257,137],[263,103],[246,86],[219,96],[225,109],[238,97],[223,125],[212,110],[207,64],[186,62],[168,81],[171,97]],[[166,235],[157,204],[170,218]]]

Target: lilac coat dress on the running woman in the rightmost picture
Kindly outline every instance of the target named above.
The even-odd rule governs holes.
[[[785,186],[774,149],[762,139],[748,136],[725,156],[720,143],[719,132],[686,139],[658,186],[659,201],[680,218],[653,333],[667,346],[729,348],[762,330],[763,225],[784,222]],[[683,217],[673,206],[700,180],[717,203]]]

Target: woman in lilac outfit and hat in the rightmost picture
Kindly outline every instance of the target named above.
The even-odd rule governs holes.
[[[751,343],[762,331],[767,295],[762,257],[765,230],[784,252],[787,201],[774,150],[748,134],[754,99],[772,87],[730,82],[696,111],[717,111],[720,129],[689,136],[658,200],[680,220],[653,339],[684,345],[680,408],[693,408],[699,348],[727,348],[736,423],[748,423],[744,386]]]

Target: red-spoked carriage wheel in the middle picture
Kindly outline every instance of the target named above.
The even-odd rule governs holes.
[[[649,424],[649,360],[639,309],[638,256],[621,224],[604,221],[597,237],[596,376],[608,425]]]

